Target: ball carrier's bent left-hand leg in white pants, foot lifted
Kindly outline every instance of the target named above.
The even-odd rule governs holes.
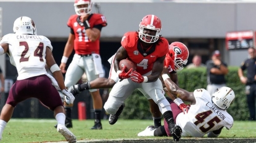
[[[125,99],[138,87],[138,83],[131,79],[124,79],[117,82],[109,93],[109,98],[104,104],[105,111],[110,114],[109,123],[114,125],[125,107]]]

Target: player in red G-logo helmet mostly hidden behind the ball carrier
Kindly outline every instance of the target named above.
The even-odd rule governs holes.
[[[178,85],[178,77],[177,77],[176,71],[181,71],[183,69],[183,64],[187,63],[188,56],[189,56],[188,48],[183,43],[173,42],[169,45],[169,52],[165,56],[164,64],[169,69],[171,80],[175,81],[177,85]],[[114,63],[113,63],[114,59],[115,59],[115,55],[109,58],[109,63],[111,65],[110,72],[109,72],[109,79],[97,78],[91,82],[73,85],[71,87],[72,90],[70,92],[73,95],[77,95],[83,90],[97,89],[97,88],[112,88],[115,85],[115,83],[117,83],[118,80],[120,80],[117,75],[117,72],[115,72],[114,70]],[[175,61],[176,64],[174,64],[174,62],[170,62],[170,60]],[[162,78],[161,78],[161,81],[162,81]],[[163,87],[165,87],[164,83],[163,83]],[[161,126],[161,118],[162,118],[162,114],[159,110],[159,106],[155,104],[155,102],[151,99],[151,97],[147,95],[147,93],[143,92],[143,90],[142,90],[142,93],[144,94],[144,96],[146,96],[146,98],[150,103],[151,114],[154,120],[154,128],[158,128],[159,126]],[[171,99],[175,101],[176,98],[173,96],[171,97],[172,97]],[[179,104],[179,106],[181,107],[181,109],[184,109],[184,110],[186,110],[187,108],[186,104]],[[115,115],[115,122],[117,122],[118,116],[119,115]],[[113,122],[113,120],[110,120],[110,121],[111,121],[110,124],[115,123]]]

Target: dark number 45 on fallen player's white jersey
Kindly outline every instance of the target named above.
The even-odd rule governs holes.
[[[198,125],[199,123],[203,123],[204,122],[204,119],[207,118],[210,114],[212,114],[212,110],[207,110],[205,112],[202,112],[202,113],[199,113],[196,115],[196,119],[197,121],[194,122],[195,125]],[[204,125],[200,126],[200,130],[203,132],[203,133],[207,133],[207,131],[209,131],[210,129],[213,128],[213,126],[215,126],[215,123],[219,123],[221,122],[220,118],[218,118],[217,116],[213,117],[211,120],[209,120],[209,122],[205,123],[205,124],[208,124],[208,127],[205,128]]]

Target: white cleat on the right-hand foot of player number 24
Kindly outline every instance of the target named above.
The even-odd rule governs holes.
[[[57,131],[65,137],[68,143],[76,143],[75,135],[65,126],[62,124],[57,125]]]

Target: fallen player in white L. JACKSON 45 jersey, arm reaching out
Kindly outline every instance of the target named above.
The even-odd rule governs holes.
[[[162,78],[172,95],[191,103],[189,110],[183,112],[173,101],[170,101],[176,125],[181,126],[185,137],[218,137],[221,129],[230,129],[233,126],[233,117],[226,109],[234,101],[234,91],[229,87],[221,87],[213,95],[203,88],[189,92],[179,88],[167,75],[164,68]],[[168,124],[157,129],[147,126],[138,136],[171,136]]]

